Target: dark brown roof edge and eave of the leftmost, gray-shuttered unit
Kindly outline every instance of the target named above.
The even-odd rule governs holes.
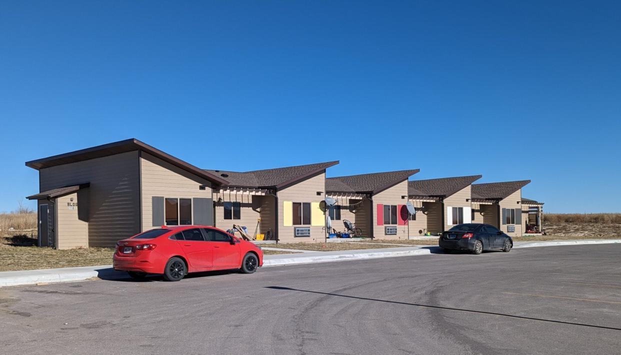
[[[217,185],[224,184],[226,181],[221,177],[215,176],[213,174],[207,173],[206,171],[197,168],[196,166],[186,163],[179,158],[175,158],[168,153],[164,153],[153,146],[148,145],[147,143],[140,142],[136,138],[130,138],[127,140],[121,140],[119,142],[108,143],[104,145],[93,146],[91,148],[86,148],[82,150],[71,151],[70,153],[48,156],[47,158],[31,160],[26,162],[26,166],[29,166],[33,169],[43,169],[49,168],[50,166],[57,166],[62,164],[76,163],[78,161],[84,161],[94,158],[102,158],[104,156],[115,155],[119,153],[126,153],[128,151],[141,150],[149,153],[150,155],[156,156],[163,161],[171,163],[178,168],[184,169],[189,173],[193,173],[196,176],[202,177],[203,179],[207,179],[211,182],[214,182]]]

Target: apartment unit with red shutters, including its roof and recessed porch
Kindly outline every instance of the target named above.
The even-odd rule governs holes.
[[[366,237],[408,239],[407,181],[419,171],[410,169],[328,177],[325,180],[326,195],[337,200],[330,210],[332,225],[349,220]]]

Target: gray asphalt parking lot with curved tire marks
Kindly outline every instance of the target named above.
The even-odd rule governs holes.
[[[0,289],[2,353],[612,354],[621,245]]]

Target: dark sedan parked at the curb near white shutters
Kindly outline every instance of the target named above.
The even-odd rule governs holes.
[[[458,224],[443,232],[438,244],[444,251],[469,250],[477,255],[491,249],[508,253],[513,248],[509,235],[492,225],[481,223]]]

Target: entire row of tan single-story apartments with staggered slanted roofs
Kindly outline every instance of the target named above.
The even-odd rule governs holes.
[[[246,227],[281,242],[324,241],[344,220],[361,236],[408,239],[456,223],[540,233],[543,203],[530,181],[473,184],[476,176],[409,181],[419,169],[326,177],[338,161],[247,172],[201,169],[132,138],[28,161],[39,171],[39,245],[101,246],[162,225]],[[329,207],[326,197],[336,200]],[[410,214],[407,202],[416,207]]]

